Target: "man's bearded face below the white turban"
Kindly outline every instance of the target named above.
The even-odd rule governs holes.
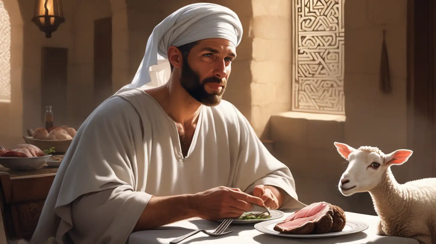
[[[195,100],[206,106],[221,102],[236,57],[235,45],[222,38],[199,41],[183,60],[180,82]]]

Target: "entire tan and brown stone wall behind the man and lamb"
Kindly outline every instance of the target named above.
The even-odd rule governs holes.
[[[5,0],[17,1],[17,0]],[[174,10],[197,0],[64,0],[67,22],[51,39],[30,21],[33,1],[20,0],[24,32],[11,58],[20,67],[19,40],[24,39],[23,78],[13,72],[14,103],[0,106],[12,120],[0,119],[0,141],[21,142],[24,129],[41,125],[41,47],[72,49],[68,69],[68,111],[71,125],[79,125],[94,108],[92,101],[92,20],[113,18],[112,89],[128,84],[143,58],[153,28]],[[86,2],[86,3],[85,3]],[[232,63],[224,98],[251,122],[258,136],[275,143],[275,156],[290,167],[297,193],[304,203],[329,201],[345,210],[374,214],[368,193],[343,197],[337,190],[346,168],[333,142],[378,146],[388,153],[406,145],[406,0],[347,0],[345,3],[346,120],[343,116],[287,112],[291,108],[292,19],[289,0],[212,0],[231,8],[242,21],[244,34]],[[267,2],[267,3],[266,3]],[[83,4],[83,5],[82,5]],[[98,5],[98,7],[95,6]],[[79,7],[82,6],[82,7]],[[94,6],[94,10],[90,7]],[[109,6],[109,7],[108,7]],[[98,10],[95,10],[98,9]],[[97,12],[95,12],[97,11]],[[82,18],[83,14],[85,17]],[[16,15],[14,15],[16,18]],[[19,22],[17,27],[20,27]],[[83,27],[89,25],[89,27]],[[393,83],[392,94],[378,89],[382,30]],[[20,104],[22,81],[23,104]],[[91,96],[91,97],[90,97]],[[12,111],[12,112],[10,112]],[[283,113],[285,112],[285,113]],[[271,117],[272,115],[272,117]],[[22,116],[22,118],[20,117]],[[270,119],[271,117],[271,119]],[[8,117],[9,118],[9,117]],[[269,123],[269,125],[267,125]],[[5,132],[7,131],[7,132]],[[22,132],[19,136],[19,133]],[[13,138],[13,139],[11,139]],[[413,159],[411,159],[413,160]],[[393,169],[400,182],[419,179],[414,165]]]

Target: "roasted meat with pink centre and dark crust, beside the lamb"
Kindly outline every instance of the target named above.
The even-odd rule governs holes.
[[[326,202],[312,203],[276,224],[283,234],[324,234],[341,231],[345,226],[344,211]]]

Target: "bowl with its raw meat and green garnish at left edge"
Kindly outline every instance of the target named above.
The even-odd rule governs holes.
[[[0,165],[15,171],[32,171],[41,168],[51,154],[31,144],[18,144],[12,149],[0,149]]]

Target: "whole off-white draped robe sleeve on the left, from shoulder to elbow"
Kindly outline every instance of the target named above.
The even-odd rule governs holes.
[[[143,127],[136,109],[121,97],[107,99],[82,124],[41,214],[47,219],[54,211],[60,218],[55,230],[59,243],[65,238],[74,243],[126,243],[152,197],[136,187],[138,171],[146,167]]]

